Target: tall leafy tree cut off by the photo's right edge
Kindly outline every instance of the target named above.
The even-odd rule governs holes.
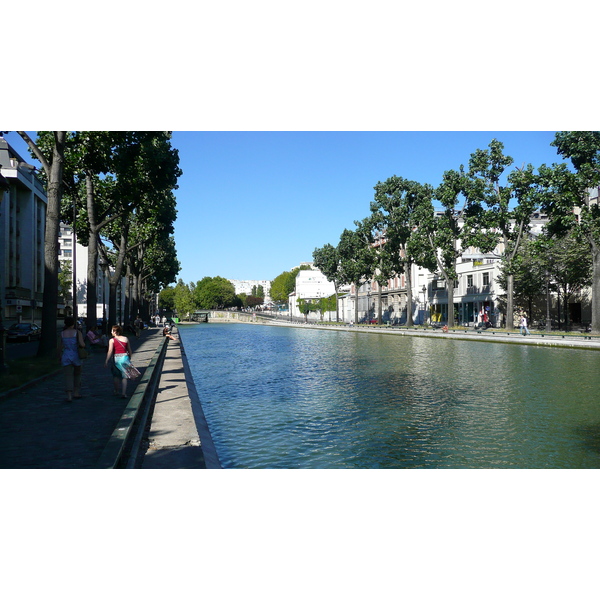
[[[552,145],[570,159],[575,171],[565,164],[544,165],[544,209],[552,218],[551,232],[577,226],[587,244],[592,259],[592,332],[600,334],[600,207],[589,194],[590,188],[600,185],[600,132],[559,131]]]

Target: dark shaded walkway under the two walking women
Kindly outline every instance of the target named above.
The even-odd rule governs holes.
[[[132,337],[133,363],[143,373],[162,341],[160,329]],[[113,396],[105,354],[83,364],[83,398],[65,401],[62,371],[0,400],[0,468],[90,469],[96,463],[128,400]],[[139,381],[139,380],[138,380]],[[136,383],[129,382],[128,396]]]

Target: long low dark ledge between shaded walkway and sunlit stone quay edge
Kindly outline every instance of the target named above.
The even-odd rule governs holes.
[[[156,399],[168,338],[159,343],[154,356],[123,411],[96,467],[133,469],[139,458],[148,415]]]

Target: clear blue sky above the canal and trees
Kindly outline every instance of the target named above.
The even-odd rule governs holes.
[[[179,277],[272,280],[368,216],[378,181],[437,185],[493,138],[514,166],[561,162],[546,131],[175,131]]]

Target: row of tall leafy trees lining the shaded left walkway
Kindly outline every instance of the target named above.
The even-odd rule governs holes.
[[[125,319],[147,316],[147,298],[180,270],[172,234],[173,190],[182,171],[170,132],[40,131],[35,141],[18,133],[42,164],[47,187],[38,353],[48,355],[56,351],[60,223],[72,225],[88,247],[88,323],[97,319],[98,262],[110,275],[109,323],[117,322],[117,284],[124,275],[132,281]]]

